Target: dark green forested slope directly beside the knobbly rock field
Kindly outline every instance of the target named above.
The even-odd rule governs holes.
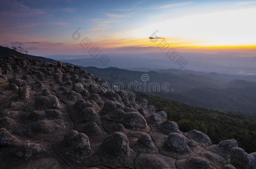
[[[197,129],[207,134],[214,144],[235,139],[247,152],[256,151],[256,116],[253,114],[223,113],[150,93],[136,92],[136,96],[137,99],[146,98],[156,111],[166,111],[168,120],[177,122],[183,132]]]

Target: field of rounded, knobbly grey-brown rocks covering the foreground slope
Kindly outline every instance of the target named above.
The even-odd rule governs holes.
[[[7,56],[0,68],[1,168],[256,169],[234,139],[184,133],[77,66]]]

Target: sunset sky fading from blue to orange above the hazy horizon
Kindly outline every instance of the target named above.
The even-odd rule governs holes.
[[[255,18],[256,0],[1,0],[0,45],[86,54],[87,37],[105,53],[160,52],[165,40],[181,52],[256,54]]]

